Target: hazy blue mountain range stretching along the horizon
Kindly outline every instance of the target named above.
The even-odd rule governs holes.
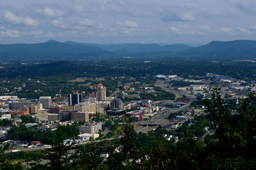
[[[0,45],[0,60],[60,60],[86,57],[254,57],[256,41],[212,41],[192,47],[183,44],[158,45],[127,43],[97,44],[50,40],[35,44]]]

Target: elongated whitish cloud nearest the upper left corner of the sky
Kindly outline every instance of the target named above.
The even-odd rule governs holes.
[[[6,11],[4,14],[4,18],[8,22],[12,22],[13,24],[22,24],[22,25],[27,25],[27,26],[36,26],[38,25],[38,22],[36,20],[33,20],[32,18],[29,17],[17,17],[14,13],[11,11]]]

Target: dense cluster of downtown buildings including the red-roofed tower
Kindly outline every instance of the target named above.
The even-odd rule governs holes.
[[[93,117],[96,117],[97,114],[105,115],[108,110],[111,110],[111,106],[114,107],[113,109],[116,107],[122,109],[123,107],[121,100],[116,103],[115,97],[106,97],[106,87],[102,83],[99,83],[95,92],[87,97],[79,92],[74,92],[68,94],[67,97],[61,97],[61,99],[42,96],[39,99],[29,100],[19,99],[17,96],[2,96],[0,97],[0,109],[3,113],[1,118],[14,118],[15,124],[18,124],[21,122],[22,115],[29,115],[36,120],[36,123],[31,125],[43,124],[45,128],[50,129],[56,128],[56,124],[86,122],[79,130],[81,133],[94,134],[99,132],[102,125],[90,122]],[[11,115],[13,116],[11,117]]]

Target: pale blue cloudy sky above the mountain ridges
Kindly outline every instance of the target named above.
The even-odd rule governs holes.
[[[185,43],[256,39],[255,0],[9,0],[0,43]]]

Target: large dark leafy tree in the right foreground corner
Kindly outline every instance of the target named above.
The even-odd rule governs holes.
[[[212,155],[219,157],[222,169],[255,169],[256,152],[256,96],[252,92],[243,99],[237,113],[228,109],[221,99],[220,88],[212,91],[212,100],[205,106],[216,125],[217,142],[209,145]],[[210,157],[211,160],[213,157]]]

